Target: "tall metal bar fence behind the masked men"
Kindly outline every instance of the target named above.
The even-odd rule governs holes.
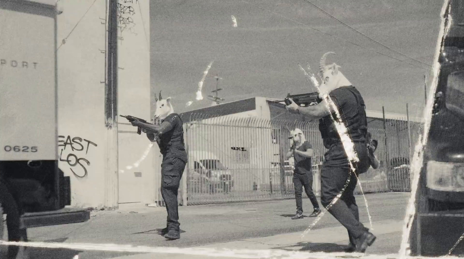
[[[313,189],[320,195],[326,149],[316,121],[198,114],[183,120],[189,162],[183,177],[186,191],[181,193],[187,194],[188,205],[293,198],[291,159],[285,157],[289,128],[301,129],[313,146]],[[369,132],[379,142],[375,154],[380,168],[360,176],[364,193],[409,191],[409,158],[422,123],[385,120],[385,129]]]

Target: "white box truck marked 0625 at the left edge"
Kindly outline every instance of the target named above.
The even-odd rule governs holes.
[[[0,214],[13,241],[90,217],[65,207],[70,178],[58,168],[56,17],[56,0],[0,0]]]

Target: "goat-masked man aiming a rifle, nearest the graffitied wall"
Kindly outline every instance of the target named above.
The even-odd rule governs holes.
[[[151,142],[157,142],[163,155],[161,163],[161,196],[168,212],[167,227],[161,230],[168,240],[180,238],[180,223],[177,194],[180,178],[187,164],[187,152],[184,144],[182,120],[174,113],[170,103],[171,97],[156,102],[155,118],[161,120],[161,125],[132,121],[133,126],[141,127]],[[157,136],[155,140],[155,136]]]

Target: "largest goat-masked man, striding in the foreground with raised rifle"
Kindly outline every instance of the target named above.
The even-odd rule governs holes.
[[[323,84],[320,87],[319,97],[328,94],[335,103],[341,116],[338,119],[341,119],[348,128],[348,136],[354,142],[354,149],[359,158],[359,162],[354,163],[356,174],[364,173],[370,167],[366,148],[367,119],[364,100],[360,92],[338,70],[340,66],[335,63],[325,65],[325,59],[330,53],[335,54],[327,52],[320,61],[319,68]],[[326,100],[307,107],[299,107],[291,100],[291,104],[286,108],[291,113],[302,114],[310,120],[319,119],[319,131],[325,148],[329,149],[324,155],[325,162],[321,170],[321,203],[327,207],[342,192],[351,171],[348,156],[334,121],[330,117],[332,114],[334,118],[337,118],[335,110],[332,110],[332,107],[328,110]],[[342,193],[340,200],[329,208],[329,213],[347,228],[350,240],[348,251],[364,253],[367,247],[374,243],[375,236],[359,221],[358,206],[354,199],[356,183],[356,176],[351,172],[348,186]]]

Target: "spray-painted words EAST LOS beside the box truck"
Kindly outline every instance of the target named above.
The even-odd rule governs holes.
[[[77,177],[87,176],[90,161],[84,156],[89,153],[89,149],[97,147],[97,144],[78,136],[71,138],[68,135],[58,136],[58,147],[61,147],[59,161],[67,162],[71,172]],[[65,155],[66,153],[68,154]]]

